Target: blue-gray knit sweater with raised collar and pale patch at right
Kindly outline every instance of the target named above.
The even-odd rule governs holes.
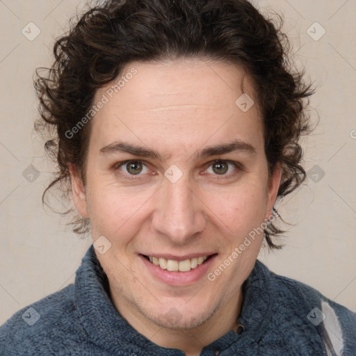
[[[204,347],[201,356],[356,356],[356,314],[315,289],[275,275],[257,261],[243,293],[238,321],[245,330],[227,332]],[[0,327],[0,355],[184,353],[157,346],[120,316],[91,245],[74,284],[21,309]]]

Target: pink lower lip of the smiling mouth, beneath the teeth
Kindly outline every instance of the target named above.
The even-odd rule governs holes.
[[[217,254],[213,254],[209,259],[204,261],[203,264],[188,270],[186,272],[170,272],[169,270],[163,270],[159,266],[155,266],[150,261],[148,261],[142,254],[138,255],[140,259],[143,261],[147,269],[154,277],[165,284],[169,284],[170,286],[186,286],[188,284],[192,284],[200,280],[202,277],[207,275],[208,270],[211,268],[211,264],[213,259],[217,256]]]

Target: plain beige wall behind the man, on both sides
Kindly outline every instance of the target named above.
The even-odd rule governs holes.
[[[33,72],[51,63],[54,38],[67,29],[67,20],[83,3],[0,1],[1,324],[18,309],[72,283],[91,243],[66,230],[63,219],[42,208],[51,166],[33,132],[38,115]],[[312,118],[315,121],[319,115],[320,123],[305,140],[305,167],[318,165],[325,172],[315,182],[312,170],[298,193],[277,205],[295,226],[290,227],[284,250],[262,251],[261,259],[276,273],[314,286],[356,311],[356,1],[254,3],[264,11],[284,13],[284,29],[298,50],[296,62],[305,65],[318,86]],[[30,35],[29,22],[40,29],[33,41],[22,34],[27,29]],[[314,38],[321,35],[315,22],[326,31],[318,40],[307,33],[311,28]],[[31,164],[40,171],[36,179],[26,171]]]

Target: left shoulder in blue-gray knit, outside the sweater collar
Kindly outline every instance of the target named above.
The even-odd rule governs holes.
[[[74,285],[20,309],[0,327],[1,355],[58,353],[72,339],[85,337],[74,303]]]

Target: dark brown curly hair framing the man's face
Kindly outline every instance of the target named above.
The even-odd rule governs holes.
[[[243,67],[264,121],[269,173],[282,165],[278,197],[294,191],[306,177],[300,136],[309,132],[306,106],[314,90],[305,83],[304,71],[295,69],[282,17],[276,18],[264,17],[247,0],[108,0],[77,17],[56,41],[52,67],[36,72],[40,119],[35,129],[49,134],[44,147],[58,168],[42,202],[58,184],[65,201],[72,201],[69,163],[86,184],[90,121],[70,137],[68,132],[86,117],[95,92],[133,60],[168,58],[207,58]],[[69,224],[77,234],[90,231],[89,220],[77,213]],[[281,247],[271,238],[283,232],[273,223],[266,227],[270,248]]]

